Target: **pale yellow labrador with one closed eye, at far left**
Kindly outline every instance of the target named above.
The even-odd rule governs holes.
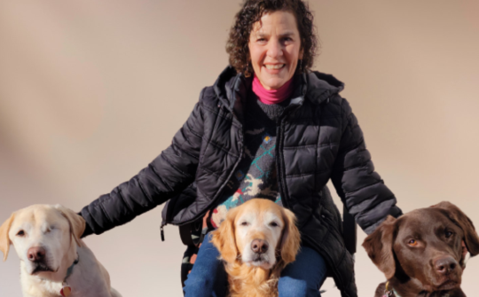
[[[0,250],[20,258],[24,297],[121,297],[108,272],[80,239],[85,222],[60,205],[20,209],[0,226]]]

